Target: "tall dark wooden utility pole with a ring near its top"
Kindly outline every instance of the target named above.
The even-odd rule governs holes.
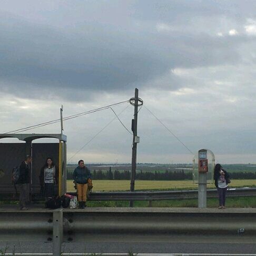
[[[133,121],[133,144],[132,144],[132,173],[131,173],[131,186],[130,191],[134,191],[135,173],[136,173],[136,158],[137,158],[137,142],[135,138],[137,136],[137,117],[138,117],[138,103],[139,103],[139,90],[135,88],[134,98],[134,121]],[[133,201],[130,201],[130,207],[133,206]]]

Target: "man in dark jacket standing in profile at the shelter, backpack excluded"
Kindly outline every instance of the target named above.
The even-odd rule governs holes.
[[[26,160],[19,166],[19,209],[27,210],[26,202],[29,201],[29,182],[30,182],[30,168],[32,156],[27,155]]]

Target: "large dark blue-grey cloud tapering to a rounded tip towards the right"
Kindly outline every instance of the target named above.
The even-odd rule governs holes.
[[[153,47],[133,35],[111,36],[112,31],[97,27],[86,35],[79,31],[70,35],[21,21],[9,26],[11,22],[5,19],[0,28],[0,75],[5,81],[113,90],[168,68]]]

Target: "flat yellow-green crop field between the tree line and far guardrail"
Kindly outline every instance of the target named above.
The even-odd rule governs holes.
[[[255,180],[232,180],[229,187],[256,186]],[[208,184],[209,189],[215,188],[214,184]],[[135,190],[181,190],[197,189],[198,185],[192,181],[135,181]],[[130,181],[128,180],[94,180],[93,191],[129,191]],[[67,191],[73,192],[73,181],[67,181]]]

